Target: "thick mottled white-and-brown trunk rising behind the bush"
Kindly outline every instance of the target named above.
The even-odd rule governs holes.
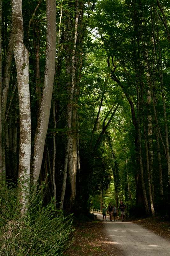
[[[29,195],[30,160],[31,160],[31,112],[29,93],[29,54],[24,46],[24,31],[22,18],[22,0],[12,0],[13,51],[17,68],[19,97],[19,169],[18,189],[19,202],[22,204],[21,214],[26,211]]]

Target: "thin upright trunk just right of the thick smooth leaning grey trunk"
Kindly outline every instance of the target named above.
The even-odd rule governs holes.
[[[56,129],[56,121],[55,121],[55,101],[53,101],[53,120],[54,120],[54,129]],[[55,203],[55,201],[56,201],[55,156],[56,156],[55,132],[53,132],[53,188],[54,188],[54,203]]]

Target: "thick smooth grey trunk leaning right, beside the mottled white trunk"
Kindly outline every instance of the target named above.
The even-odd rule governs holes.
[[[44,144],[48,129],[51,99],[53,93],[55,75],[56,54],[56,2],[47,0],[47,44],[44,84],[41,97],[41,107],[37,121],[37,129],[34,139],[33,182],[35,189],[41,170]]]

